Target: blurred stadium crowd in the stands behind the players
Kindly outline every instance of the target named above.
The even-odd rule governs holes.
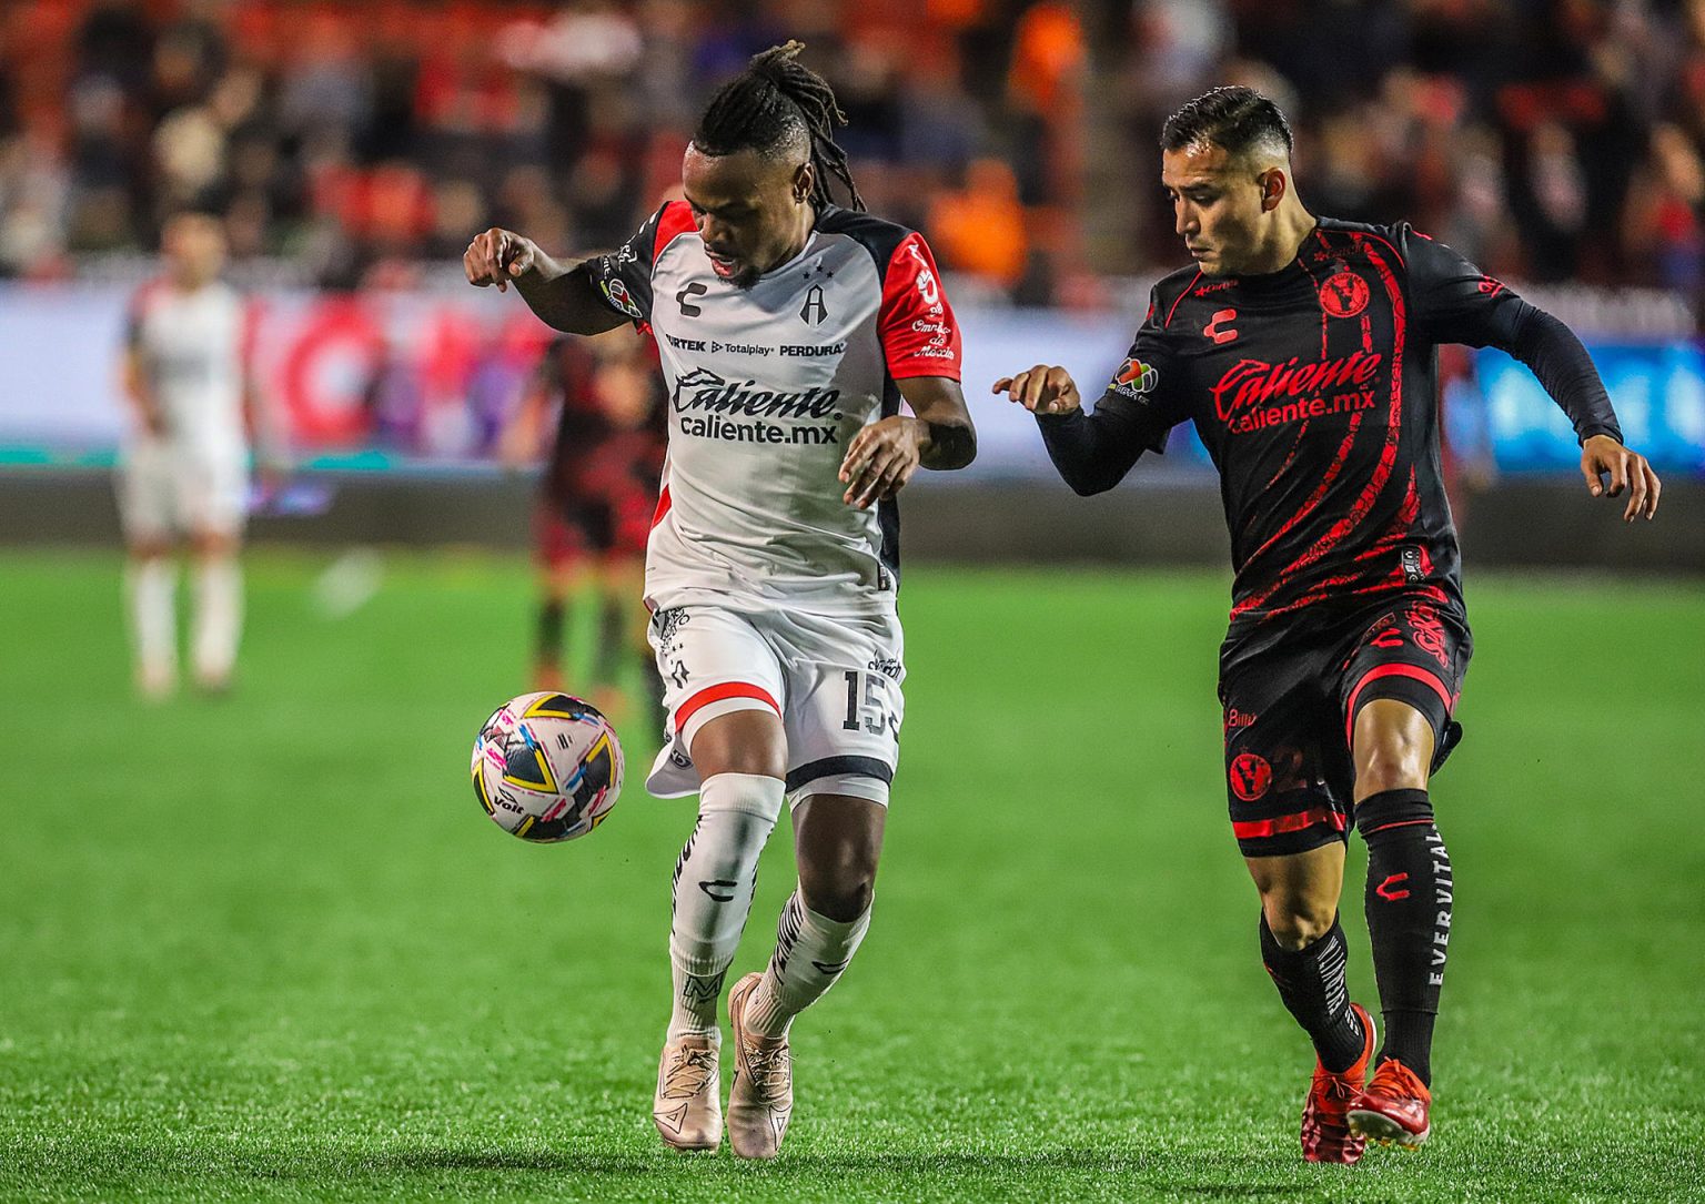
[[[334,288],[493,223],[612,246],[708,90],[789,36],[870,206],[977,300],[1091,307],[1175,266],[1154,138],[1221,82],[1291,113],[1315,211],[1517,280],[1705,278],[1700,0],[14,0],[0,273],[150,251],[182,206],[239,266]]]

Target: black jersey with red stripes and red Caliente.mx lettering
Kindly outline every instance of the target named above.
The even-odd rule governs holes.
[[[1436,348],[1517,350],[1536,314],[1555,322],[1408,225],[1321,220],[1265,276],[1176,271],[1154,287],[1096,406],[1100,450],[1120,455],[1095,488],[1195,423],[1231,530],[1233,636],[1400,592],[1459,609]],[[1620,438],[1591,365],[1587,375],[1586,401],[1565,399],[1577,433]],[[1072,425],[1088,420],[1042,420],[1062,472]]]

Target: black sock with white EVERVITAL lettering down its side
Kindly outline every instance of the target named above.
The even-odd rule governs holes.
[[[1432,1083],[1432,1022],[1439,1015],[1451,940],[1451,854],[1425,790],[1386,790],[1355,805],[1367,841],[1367,936],[1379,979],[1384,1049]]]

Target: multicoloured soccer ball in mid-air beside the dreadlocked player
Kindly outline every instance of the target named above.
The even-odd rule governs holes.
[[[592,703],[513,698],[474,737],[474,796],[505,832],[552,844],[585,836],[622,793],[622,745]]]

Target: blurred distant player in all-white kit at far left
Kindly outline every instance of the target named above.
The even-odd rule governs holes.
[[[136,293],[126,324],[123,391],[135,421],[118,476],[136,687],[147,698],[177,687],[179,535],[196,559],[196,684],[208,691],[230,684],[242,629],[237,549],[254,423],[247,309],[218,278],[223,229],[213,217],[179,213],[167,220],[160,249],[165,273]]]

